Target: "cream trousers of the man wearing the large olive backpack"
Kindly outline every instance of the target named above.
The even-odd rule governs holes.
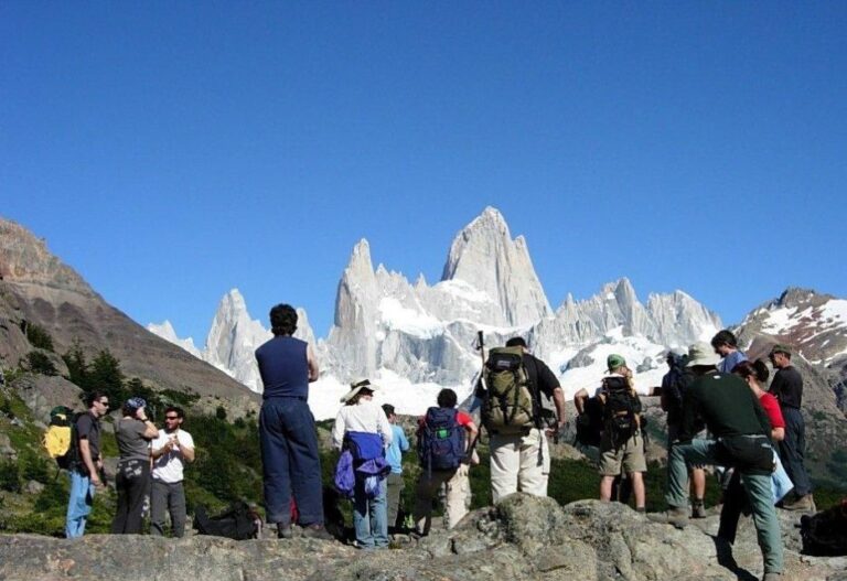
[[[550,449],[538,429],[526,435],[491,434],[491,496],[494,503],[515,492],[547,496]]]

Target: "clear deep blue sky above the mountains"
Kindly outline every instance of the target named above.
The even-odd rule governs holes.
[[[138,322],[237,287],[319,335],[353,245],[486,205],[554,308],[847,294],[847,2],[0,3],[0,215]]]

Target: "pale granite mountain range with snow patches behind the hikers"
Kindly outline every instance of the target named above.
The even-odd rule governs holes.
[[[339,282],[333,327],[315,345],[323,376],[340,384],[369,376],[389,388],[401,380],[455,386],[467,394],[480,366],[478,331],[487,345],[526,336],[539,356],[565,374],[570,359],[581,354],[582,364],[571,367],[599,378],[609,348],[621,346],[643,372],[655,375],[668,346],[708,341],[721,325],[715,313],[682,291],[651,294],[644,304],[625,278],[583,301],[568,295],[554,311],[526,240],[513,239],[500,212],[489,207],[457,234],[435,284],[422,276],[412,283],[383,265],[375,268],[371,247],[362,239]],[[300,332],[302,338],[313,337],[308,324]],[[222,300],[201,356],[260,389],[251,352],[269,336],[233,291]],[[645,377],[642,385],[646,389],[655,381]],[[409,411],[421,406],[422,398]]]

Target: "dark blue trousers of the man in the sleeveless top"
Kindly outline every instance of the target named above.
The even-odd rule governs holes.
[[[318,432],[309,405],[299,398],[266,399],[259,441],[268,523],[291,523],[293,495],[300,525],[323,525]]]

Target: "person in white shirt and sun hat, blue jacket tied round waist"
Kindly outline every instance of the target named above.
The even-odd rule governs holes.
[[[369,461],[377,462],[385,469],[385,477],[390,472],[390,466],[385,460],[385,449],[392,444],[393,433],[383,408],[373,399],[377,389],[378,387],[368,379],[351,384],[350,391],[341,398],[345,405],[335,418],[332,444],[337,450],[344,446],[351,450],[355,469]],[[365,550],[387,548],[385,482],[380,482],[375,491],[368,493],[365,474],[356,470],[355,478],[353,526],[356,531],[356,547]]]

